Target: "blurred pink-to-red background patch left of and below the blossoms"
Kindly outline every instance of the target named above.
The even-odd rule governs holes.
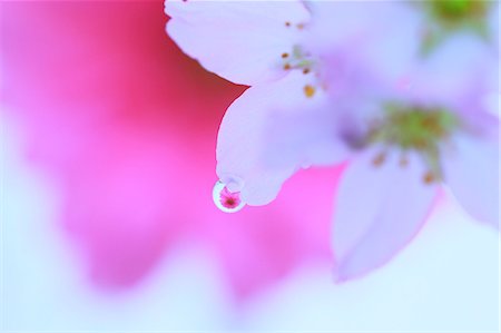
[[[177,49],[161,1],[2,7],[2,104],[28,133],[30,160],[61,184],[60,222],[95,284],[131,287],[179,242],[218,257],[239,298],[331,261],[336,169],[298,175],[267,207],[214,206],[215,134],[244,87]]]

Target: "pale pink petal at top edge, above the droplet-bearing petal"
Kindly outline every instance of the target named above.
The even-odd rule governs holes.
[[[166,1],[169,36],[207,70],[235,84],[284,76],[284,52],[310,19],[301,1]],[[287,23],[287,25],[286,25]]]

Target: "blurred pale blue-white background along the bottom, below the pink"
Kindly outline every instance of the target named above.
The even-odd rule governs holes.
[[[235,305],[194,245],[175,248],[132,290],[97,292],[55,224],[58,185],[26,163],[22,131],[1,114],[4,332],[499,331],[499,235],[451,200],[394,261],[345,284],[312,265]]]

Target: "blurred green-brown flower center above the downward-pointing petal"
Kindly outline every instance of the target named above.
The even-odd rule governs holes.
[[[429,168],[429,173],[423,176],[428,184],[441,178],[441,145],[459,129],[460,119],[446,109],[391,104],[386,106],[383,118],[371,128],[367,144],[401,150],[402,167],[407,164],[406,151],[416,151]],[[374,165],[384,163],[384,153],[376,156]]]

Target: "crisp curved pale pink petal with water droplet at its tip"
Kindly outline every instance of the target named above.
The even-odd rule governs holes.
[[[249,205],[273,200],[282,184],[297,169],[295,164],[266,164],[267,128],[275,112],[299,109],[308,111],[323,99],[321,91],[306,97],[308,76],[292,72],[273,84],[254,86],[228,108],[217,140],[217,175],[228,183],[238,183],[242,198]]]

